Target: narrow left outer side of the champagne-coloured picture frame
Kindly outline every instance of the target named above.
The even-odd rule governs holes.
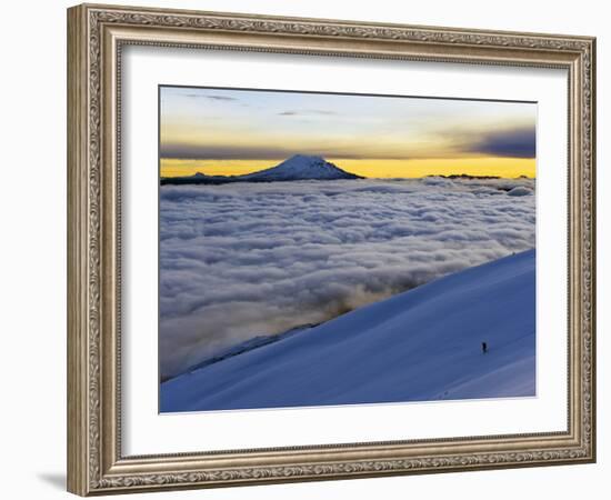
[[[87,323],[87,213],[88,213],[88,92],[87,10],[72,7],[68,21],[68,398],[67,489],[86,496],[88,481],[88,339]]]

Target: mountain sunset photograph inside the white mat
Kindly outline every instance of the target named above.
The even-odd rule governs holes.
[[[537,396],[535,101],[158,98],[160,413]]]

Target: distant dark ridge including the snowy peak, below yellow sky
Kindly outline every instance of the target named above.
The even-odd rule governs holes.
[[[294,154],[276,167],[243,176],[207,176],[198,172],[193,176],[161,178],[161,184],[223,184],[229,182],[286,182],[337,179],[362,179],[362,177],[347,172],[322,157]]]

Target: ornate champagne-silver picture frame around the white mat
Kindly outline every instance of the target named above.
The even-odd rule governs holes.
[[[126,456],[121,64],[128,46],[568,72],[568,428]],[[595,39],[82,4],[68,10],[68,490],[104,494],[595,461]]]

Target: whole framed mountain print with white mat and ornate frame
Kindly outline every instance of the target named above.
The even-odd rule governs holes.
[[[68,488],[595,459],[590,37],[68,11]]]

